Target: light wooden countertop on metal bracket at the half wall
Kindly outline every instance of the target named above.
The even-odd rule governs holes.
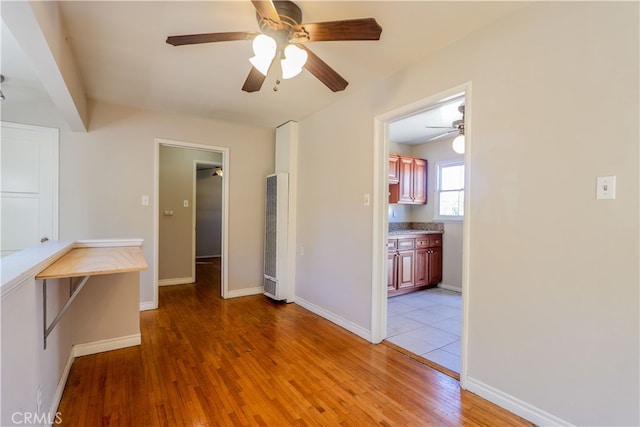
[[[36,279],[126,273],[147,268],[140,247],[75,248],[42,270]]]

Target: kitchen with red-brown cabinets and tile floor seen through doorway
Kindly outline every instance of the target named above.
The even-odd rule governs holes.
[[[389,126],[387,344],[460,372],[464,94]]]

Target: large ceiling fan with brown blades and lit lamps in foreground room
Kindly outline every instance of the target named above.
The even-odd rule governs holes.
[[[256,19],[260,31],[169,36],[167,43],[173,46],[183,46],[253,40],[255,56],[250,59],[252,67],[242,86],[243,91],[259,91],[276,56],[279,56],[282,58],[283,78],[293,77],[302,71],[302,68],[305,68],[333,92],[338,92],[344,90],[349,82],[303,43],[380,40],[382,27],[374,18],[304,24],[301,23],[302,10],[291,1],[251,0],[251,3],[256,9]],[[277,90],[277,87],[274,90]]]

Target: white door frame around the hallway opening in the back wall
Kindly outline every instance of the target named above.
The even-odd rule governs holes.
[[[225,177],[222,181],[222,260],[220,268],[222,270],[220,292],[222,298],[226,298],[229,293],[229,147],[216,145],[194,144],[191,142],[174,141],[170,139],[156,138],[154,140],[155,160],[154,160],[154,183],[153,183],[153,204],[155,214],[153,216],[154,243],[153,243],[153,305],[158,308],[158,260],[160,253],[160,146],[175,147],[190,150],[210,151],[222,154],[222,170]],[[192,230],[192,253],[193,268],[195,268],[195,230]]]

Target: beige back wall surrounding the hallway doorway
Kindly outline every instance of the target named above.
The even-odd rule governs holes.
[[[264,177],[273,172],[273,129],[93,103],[89,131],[70,132],[51,105],[16,106],[3,120],[60,128],[60,238],[140,237],[149,270],[140,303],[153,301],[154,140],[229,147],[229,290],[262,283]],[[150,196],[142,206],[143,194]]]

